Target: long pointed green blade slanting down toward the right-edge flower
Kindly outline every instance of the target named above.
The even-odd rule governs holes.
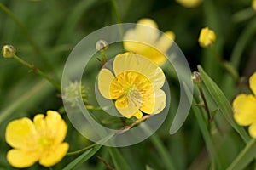
[[[201,73],[203,82],[205,83],[207,90],[212,96],[212,99],[218,105],[221,113],[224,115],[225,119],[230,123],[237,133],[240,134],[241,138],[247,143],[250,140],[250,137],[246,133],[245,129],[236,124],[233,119],[233,111],[230,105],[230,101],[225,97],[224,93],[218,88],[218,85],[212,81],[212,79],[207,75],[207,73],[201,68],[201,65],[198,65],[198,70]]]

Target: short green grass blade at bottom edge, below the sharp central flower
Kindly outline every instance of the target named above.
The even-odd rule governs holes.
[[[113,147],[109,148],[109,153],[113,159],[114,167],[117,170],[131,170],[131,168],[128,166],[124,157],[120,154],[117,148],[113,148]]]

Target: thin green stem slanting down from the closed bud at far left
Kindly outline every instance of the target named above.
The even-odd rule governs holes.
[[[35,65],[31,65],[27,63],[25,60],[20,59],[17,55],[14,55],[14,59],[16,59],[18,62],[20,62],[21,65],[25,65],[27,68],[31,69],[33,72],[38,74],[41,77],[44,77],[46,80],[48,80],[55,88],[57,88],[61,92],[61,85],[51,77],[49,77],[47,74],[45,74],[43,71],[39,70]]]

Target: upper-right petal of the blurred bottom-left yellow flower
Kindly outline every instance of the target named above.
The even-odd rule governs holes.
[[[47,135],[54,140],[54,144],[60,144],[66,137],[67,124],[62,120],[57,111],[47,111],[45,122],[47,126]]]

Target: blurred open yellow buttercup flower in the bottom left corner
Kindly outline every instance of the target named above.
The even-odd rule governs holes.
[[[33,122],[24,117],[9,122],[5,138],[14,149],[9,150],[7,160],[13,167],[30,167],[36,161],[51,167],[66,155],[68,144],[63,143],[67,124],[56,111],[47,116],[38,114]]]

